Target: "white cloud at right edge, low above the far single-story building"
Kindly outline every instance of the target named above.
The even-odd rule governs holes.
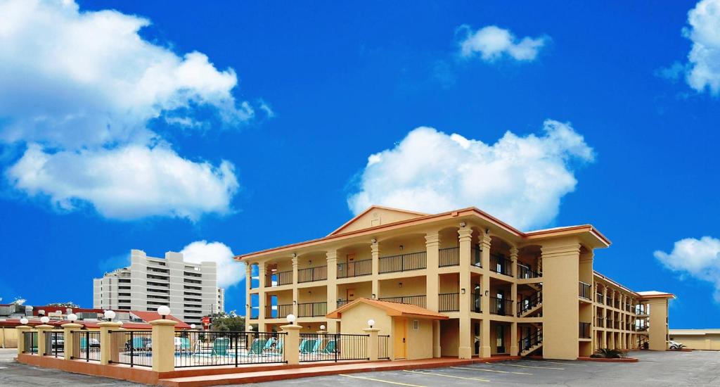
[[[720,239],[703,236],[675,242],[672,252],[654,252],[668,269],[715,285],[715,301],[720,303]]]

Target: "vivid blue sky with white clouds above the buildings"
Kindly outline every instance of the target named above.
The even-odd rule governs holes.
[[[596,270],[715,327],[719,4],[0,1],[34,26],[0,30],[0,297],[90,306],[130,249],[226,262],[364,192],[592,223]]]

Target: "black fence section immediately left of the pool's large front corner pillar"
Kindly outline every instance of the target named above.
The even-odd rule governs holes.
[[[105,343],[102,343],[105,345]],[[110,331],[110,362],[142,367],[153,366],[150,331]]]

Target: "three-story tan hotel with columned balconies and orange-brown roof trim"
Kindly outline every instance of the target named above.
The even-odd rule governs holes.
[[[590,225],[522,232],[477,208],[373,206],[323,238],[235,258],[260,331],[292,313],[307,332],[362,333],[341,316],[363,301],[392,315],[380,332],[392,359],[665,350],[674,296],[595,272],[593,252],[608,246]]]

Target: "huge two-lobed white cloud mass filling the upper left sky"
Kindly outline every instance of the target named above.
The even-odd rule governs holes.
[[[232,68],[144,40],[148,25],[72,0],[0,1],[0,143],[25,148],[6,171],[15,187],[110,218],[228,210],[233,166],[181,158],[148,124],[207,128],[202,108],[236,127],[255,110],[233,97]]]

